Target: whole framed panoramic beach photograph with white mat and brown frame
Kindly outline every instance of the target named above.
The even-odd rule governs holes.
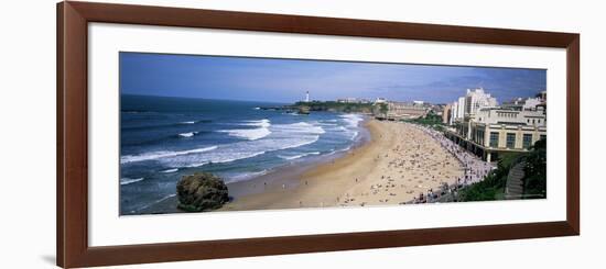
[[[61,2],[57,265],[578,235],[578,42]]]

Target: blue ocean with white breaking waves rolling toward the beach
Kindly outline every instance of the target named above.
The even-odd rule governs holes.
[[[261,110],[281,103],[120,97],[120,214],[175,195],[196,171],[226,183],[334,155],[360,139],[359,114]]]

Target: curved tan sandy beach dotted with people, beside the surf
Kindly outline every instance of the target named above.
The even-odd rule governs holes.
[[[221,210],[401,204],[464,176],[461,161],[418,126],[377,120],[365,125],[370,141],[362,146],[325,164],[230,186],[236,199]]]

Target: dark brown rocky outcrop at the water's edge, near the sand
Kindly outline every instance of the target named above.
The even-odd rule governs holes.
[[[177,208],[187,212],[216,210],[229,201],[227,186],[209,172],[183,176],[176,184]]]

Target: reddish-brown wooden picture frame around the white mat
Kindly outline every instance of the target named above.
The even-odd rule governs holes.
[[[88,245],[87,24],[143,24],[566,49],[566,220],[149,245]],[[57,265],[89,267],[580,234],[580,35],[91,2],[57,4]]]

